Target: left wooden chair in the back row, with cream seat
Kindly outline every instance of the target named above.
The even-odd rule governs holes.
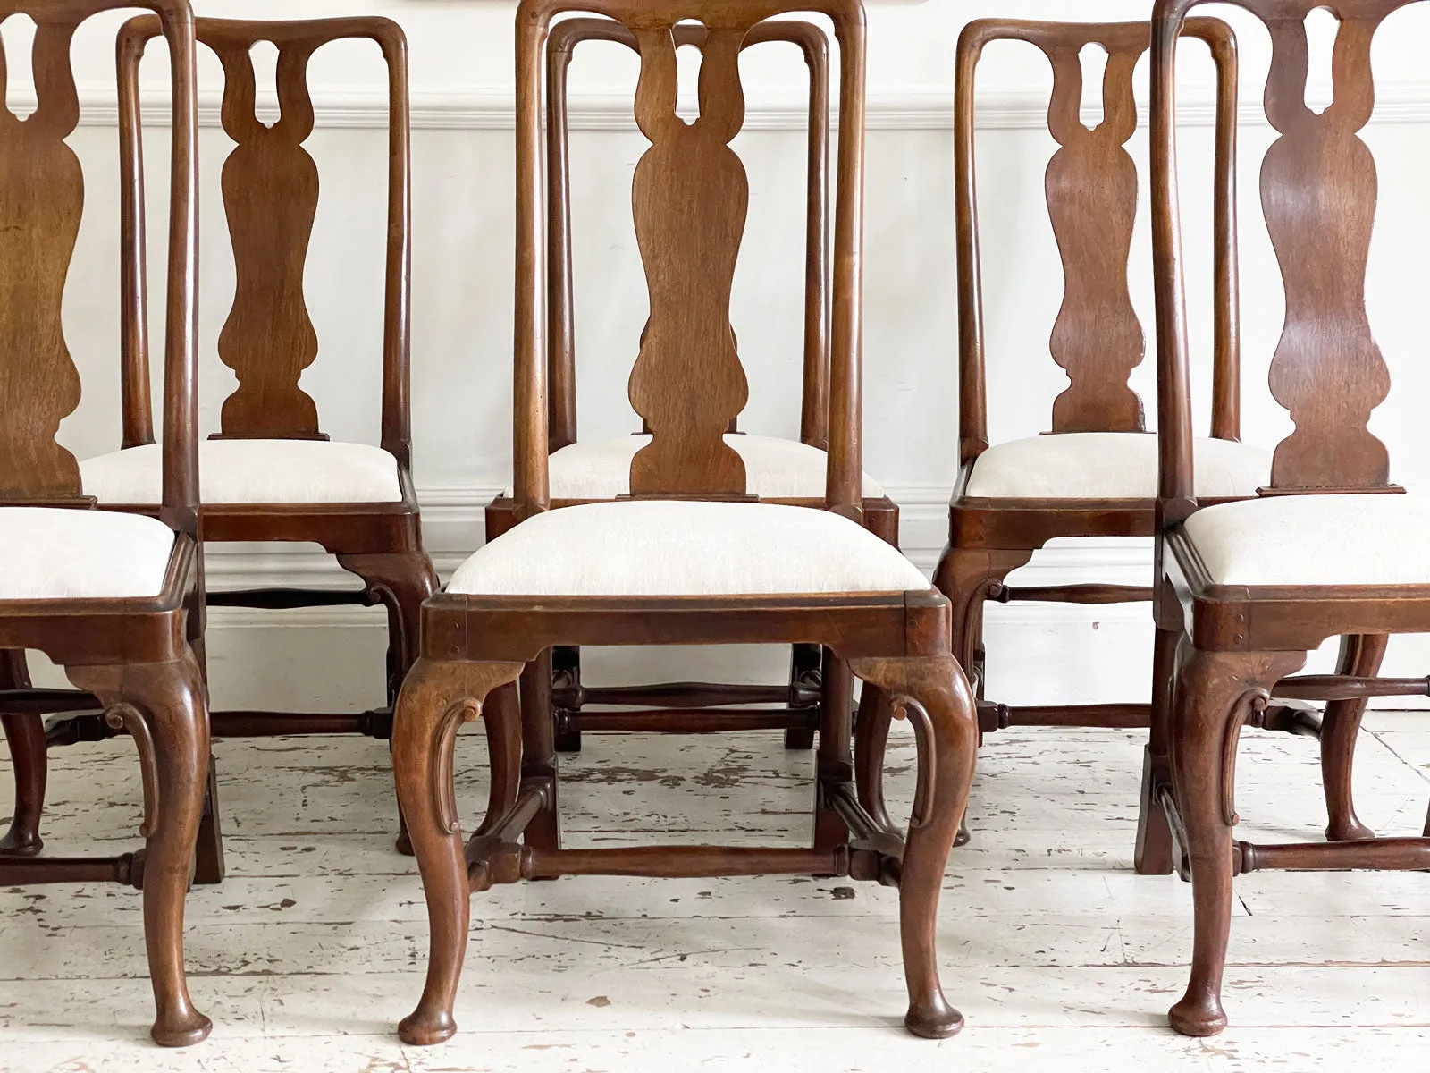
[[[209,592],[210,607],[296,608],[383,604],[388,609],[388,704],[363,712],[216,711],[217,737],[359,733],[392,734],[392,702],[416,658],[418,609],[436,591],[422,548],[412,485],[409,406],[410,137],[408,57],[402,29],[389,19],[303,21],[197,19],[199,41],[223,63],[223,129],[237,144],[223,166],[236,289],[219,335],[219,359],[237,388],[225,401],[222,431],[199,448],[202,538],[219,541],[310,541],[363,579],[362,589],[262,588]],[[122,449],[80,462],[84,492],[106,506],[153,512],[160,501],[160,448],[149,393],[144,286],[143,153],[139,63],[160,33],[152,16],[124,24],[119,39],[122,166],[132,176],[122,202],[129,236],[122,266],[124,308],[133,310],[122,349]],[[330,441],[317,406],[302,389],[317,358],[317,335],[303,300],[307,246],[317,209],[317,165],[303,147],[313,130],[307,62],[323,44],[370,39],[388,67],[388,220],[380,446]],[[267,126],[255,112],[252,49],[279,49],[280,119]],[[342,361],[333,355],[329,361]],[[200,647],[202,660],[202,647]],[[21,668],[23,671],[23,668]],[[97,715],[51,721],[49,743],[70,744],[112,733]],[[31,768],[43,773],[44,750],[30,738]],[[43,780],[43,775],[41,775]],[[216,783],[210,780],[199,848],[199,881],[223,878],[223,841]],[[33,797],[33,795],[31,795]],[[26,810],[37,833],[43,788]],[[399,848],[406,837],[399,834]]]

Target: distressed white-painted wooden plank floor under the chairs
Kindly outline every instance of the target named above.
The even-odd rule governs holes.
[[[807,833],[811,757],[786,754],[778,735],[586,743],[569,764],[569,844]],[[468,820],[485,803],[482,751],[479,737],[459,745]],[[386,747],[226,741],[217,757],[229,878],[193,891],[187,930],[212,1039],[189,1052],[149,1044],[137,893],[11,888],[0,891],[0,1069],[1430,1069],[1430,874],[1238,880],[1226,989],[1236,1027],[1216,1040],[1171,1034],[1191,900],[1175,878],[1131,870],[1137,734],[988,740],[975,843],[955,853],[944,887],[944,984],[968,1017],[944,1043],[898,1027],[895,891],[566,878],[475,898],[460,1033],[402,1047],[393,1027],[420,990],[426,920],[415,868],[390,848]],[[907,807],[908,738],[891,761],[891,797]],[[1361,817],[1419,834],[1430,714],[1373,714],[1357,773]],[[133,844],[139,803],[126,743],[56,754],[49,848]],[[1318,837],[1314,743],[1248,733],[1238,808],[1243,837]]]

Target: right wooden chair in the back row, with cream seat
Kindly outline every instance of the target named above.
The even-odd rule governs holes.
[[[1256,495],[1266,484],[1270,454],[1240,442],[1240,316],[1237,309],[1237,43],[1218,19],[1191,19],[1183,37],[1197,37],[1217,72],[1213,153],[1214,330],[1211,435],[1195,442],[1198,494],[1208,502]],[[1050,431],[991,444],[988,435],[987,343],[982,313],[981,227],[975,155],[975,79],[992,41],[1038,47],[1052,67],[1048,130],[1058,150],[1048,162],[1048,216],[1064,270],[1062,305],[1050,352],[1068,379],[1054,399]],[[1128,258],[1137,215],[1137,167],[1125,144],[1137,129],[1133,73],[1151,40],[1148,23],[1048,23],[981,19],[958,40],[954,82],[954,187],[958,248],[960,475],[948,512],[948,545],[934,584],[954,605],[954,654],[978,697],[980,731],[1005,727],[1151,727],[1143,798],[1165,774],[1164,720],[1173,650],[1154,645],[1153,697],[1144,702],[1018,707],[987,700],[982,638],[987,602],[1140,602],[1151,589],[1137,585],[1008,585],[1007,577],[1055,538],[1151,536],[1155,529],[1157,441],[1147,432],[1141,398],[1128,378],[1144,358],[1144,336],[1128,289]],[[1101,122],[1084,124],[1083,50],[1107,53]],[[1369,641],[1369,642],[1367,642]],[[1374,674],[1383,645],[1347,638],[1346,672]],[[1326,721],[1328,830],[1354,837],[1360,830],[1350,795],[1350,750],[1341,728],[1347,702],[1334,702]],[[865,720],[865,712],[869,718]],[[1356,717],[1358,722],[1358,715]],[[869,767],[878,767],[888,715],[877,694],[861,704]],[[1294,734],[1320,734],[1321,717],[1306,701],[1287,698],[1260,714],[1258,724]],[[878,811],[878,794],[872,797]],[[1143,825],[1134,854],[1141,873],[1173,868],[1168,831],[1155,813]],[[967,833],[960,834],[960,841]]]

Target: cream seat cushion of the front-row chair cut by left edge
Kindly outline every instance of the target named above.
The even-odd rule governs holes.
[[[173,547],[157,518],[0,506],[0,599],[157,597]]]

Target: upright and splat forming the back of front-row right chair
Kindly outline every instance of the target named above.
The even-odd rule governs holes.
[[[1386,445],[1367,428],[1390,373],[1366,316],[1366,263],[1376,216],[1370,49],[1387,16],[1420,0],[1238,0],[1271,34],[1264,109],[1278,133],[1261,166],[1261,210],[1286,290],[1271,395],[1296,431],[1276,448],[1266,494],[1397,491]],[[1187,313],[1177,202],[1175,50],[1203,0],[1158,0],[1153,16],[1153,259],[1157,296],[1160,511],[1171,525],[1195,509]],[[1306,103],[1307,16],[1338,17],[1334,99]]]

